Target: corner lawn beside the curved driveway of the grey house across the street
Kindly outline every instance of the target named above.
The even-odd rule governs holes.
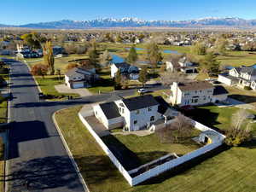
[[[57,84],[64,84],[64,77],[62,76],[61,79],[57,75],[47,75],[42,78],[41,76],[36,76],[38,84],[43,91],[44,95],[52,95],[52,96],[59,96],[60,98],[63,96],[74,96],[78,97],[77,94],[63,94],[59,93],[55,90],[55,85]]]

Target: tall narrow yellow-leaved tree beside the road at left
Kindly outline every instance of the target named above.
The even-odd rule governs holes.
[[[53,54],[52,44],[47,41],[44,45],[44,64],[49,67],[49,73],[51,75],[55,74],[55,57]]]

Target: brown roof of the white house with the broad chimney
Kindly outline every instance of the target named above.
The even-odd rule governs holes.
[[[180,90],[205,90],[212,89],[213,85],[207,81],[194,81],[189,83],[179,83]]]

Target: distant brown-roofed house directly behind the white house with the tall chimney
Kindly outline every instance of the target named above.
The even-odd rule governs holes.
[[[166,61],[166,70],[181,71],[183,73],[196,73],[195,64],[183,56],[178,61]]]

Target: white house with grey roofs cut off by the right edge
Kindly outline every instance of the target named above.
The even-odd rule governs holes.
[[[253,67],[235,67],[230,69],[229,73],[218,75],[218,81],[224,84],[233,85],[238,84],[241,87],[251,87],[256,89],[256,69]]]

